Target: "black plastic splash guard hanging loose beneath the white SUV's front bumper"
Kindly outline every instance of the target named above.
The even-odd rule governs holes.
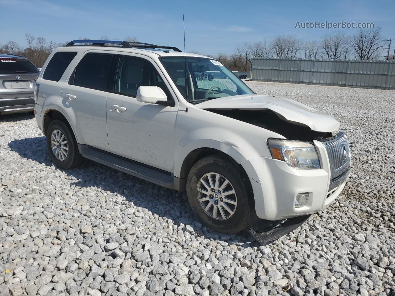
[[[249,230],[257,242],[272,242],[298,228],[305,223],[311,215],[312,214],[277,221],[260,220],[259,222],[253,223],[253,226],[250,225]]]

